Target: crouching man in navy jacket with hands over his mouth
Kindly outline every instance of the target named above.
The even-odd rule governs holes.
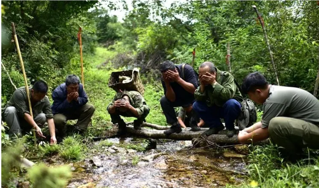
[[[74,74],[68,75],[65,83],[59,85],[52,93],[52,111],[54,114],[54,124],[58,129],[59,136],[66,135],[67,120],[78,120],[74,125],[73,132],[84,133],[91,121],[95,111],[92,104],[87,104],[83,85],[80,78]]]

